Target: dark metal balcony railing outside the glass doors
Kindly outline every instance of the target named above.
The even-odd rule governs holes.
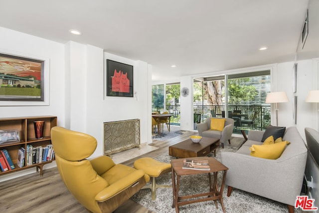
[[[201,123],[206,120],[206,118],[211,117],[211,110],[214,110],[216,117],[225,117],[225,106],[203,106],[194,105],[194,113],[201,114]],[[233,112],[234,110],[240,110],[242,114],[246,115],[245,119],[252,119],[255,112],[257,112],[257,117],[254,121],[254,128],[264,130],[270,125],[270,106],[267,105],[228,105],[228,111]],[[171,124],[179,125],[180,121],[180,106],[179,105],[167,105],[166,111],[169,114],[173,114],[171,118]],[[226,115],[225,115],[226,114]]]

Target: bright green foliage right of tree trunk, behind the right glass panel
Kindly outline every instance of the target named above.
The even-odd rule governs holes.
[[[258,91],[253,85],[245,85],[249,78],[231,79],[228,81],[228,103],[244,104],[254,100]]]

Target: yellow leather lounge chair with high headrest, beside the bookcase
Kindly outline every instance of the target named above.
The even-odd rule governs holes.
[[[115,164],[108,156],[87,160],[97,147],[90,135],[57,126],[51,141],[61,179],[90,212],[112,213],[150,181],[143,170]]]

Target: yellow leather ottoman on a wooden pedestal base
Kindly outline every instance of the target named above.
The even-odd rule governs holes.
[[[161,174],[171,172],[171,165],[166,163],[161,163],[153,158],[140,158],[134,162],[134,168],[138,170],[143,170],[152,178],[152,184],[144,186],[142,189],[151,189],[152,200],[156,199],[156,189],[171,187],[166,185],[156,184],[155,178],[159,177]]]

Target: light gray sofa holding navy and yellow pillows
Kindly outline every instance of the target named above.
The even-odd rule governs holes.
[[[229,197],[233,188],[288,205],[294,212],[300,195],[307,161],[307,148],[296,127],[286,129],[283,140],[291,142],[276,160],[250,156],[252,144],[261,145],[263,131],[249,131],[248,140],[237,152],[221,152],[228,167],[225,185]]]

